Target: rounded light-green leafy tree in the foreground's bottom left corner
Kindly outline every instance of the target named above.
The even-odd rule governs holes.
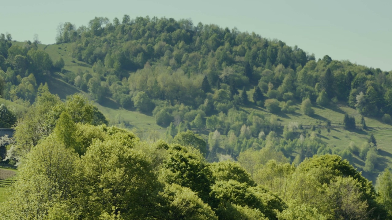
[[[2,219],[45,219],[56,203],[73,193],[78,156],[53,137],[40,142],[27,155],[12,195],[2,203]]]

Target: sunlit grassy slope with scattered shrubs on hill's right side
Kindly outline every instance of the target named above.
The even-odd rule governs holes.
[[[363,172],[363,175],[369,180],[375,180],[378,173],[383,171],[385,168],[392,166],[392,126],[389,124],[384,124],[381,121],[365,117],[366,124],[368,126],[367,130],[362,130],[360,128],[361,115],[358,112],[350,108],[343,103],[330,104],[328,108],[314,105],[315,115],[312,117],[302,114],[300,110],[300,104],[296,104],[297,111],[293,114],[289,113],[279,113],[279,122],[281,126],[289,123],[302,124],[305,129],[310,133],[310,126],[316,126],[316,131],[320,128],[321,134],[318,135],[322,141],[324,141],[332,149],[345,150],[348,148],[350,142],[354,142],[359,148],[361,148],[363,142],[367,142],[370,134],[373,133],[377,141],[377,149],[379,152],[379,164],[375,166],[375,171],[372,173]],[[267,110],[259,107],[242,107],[243,110],[247,112],[258,111],[263,112],[263,114],[268,119],[272,114]],[[343,119],[345,113],[350,116],[355,117],[357,124],[357,130],[348,131],[344,129]],[[332,128],[330,133],[327,132],[326,124],[327,121],[331,121]],[[356,155],[352,161],[350,161],[354,166],[358,168],[359,171],[365,166],[365,162]]]

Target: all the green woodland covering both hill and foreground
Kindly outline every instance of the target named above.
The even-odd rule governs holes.
[[[57,31],[54,45],[0,34],[0,127],[15,128],[0,159],[20,171],[1,219],[392,218],[392,151],[374,135],[392,123],[392,72],[189,19]],[[109,119],[108,100],[164,132]]]

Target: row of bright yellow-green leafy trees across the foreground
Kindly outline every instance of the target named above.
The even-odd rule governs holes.
[[[100,113],[91,108],[78,95],[60,104],[47,87],[40,87],[36,103],[16,127],[16,142],[8,152],[25,149],[18,158],[23,164],[21,174],[2,204],[1,218],[390,217],[392,197],[387,186],[392,179],[388,171],[380,175],[376,191],[337,155],[314,156],[291,165],[275,149],[279,144],[273,132],[261,150],[241,152],[238,163],[208,163],[206,142],[191,131],[178,133],[173,144],[143,142],[131,132],[94,121]],[[55,120],[50,121],[49,115]],[[34,129],[46,129],[47,135],[35,144],[28,143],[30,138],[22,134]],[[217,141],[219,132],[214,132],[209,148]]]

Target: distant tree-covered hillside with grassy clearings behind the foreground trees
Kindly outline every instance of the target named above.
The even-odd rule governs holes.
[[[194,26],[190,20],[125,16],[120,23],[96,17],[87,29],[71,23],[62,28],[54,45],[4,44],[9,48],[2,50],[6,51],[1,63],[5,98],[27,106],[40,83],[48,83],[63,101],[80,92],[96,101],[109,124],[133,130],[143,139],[170,142],[181,131],[200,133],[208,140],[210,161],[236,159],[248,148],[263,148],[274,131],[276,150],[296,163],[314,154],[337,153],[359,170],[365,169],[371,180],[391,165],[388,72],[328,55],[316,61],[314,55],[279,40],[216,25]],[[44,51],[53,66],[35,65],[47,58],[33,50]],[[30,65],[21,66],[24,59]],[[21,83],[24,79],[26,83]],[[301,110],[307,98],[313,116]],[[275,108],[265,106],[267,102]],[[345,113],[355,117],[357,129],[345,129]],[[365,130],[359,123],[361,116],[365,116]],[[286,149],[301,134],[308,140],[312,126],[315,134],[307,144],[313,147]],[[289,136],[285,129],[291,129],[286,131]],[[214,131],[219,135],[212,138]],[[377,146],[363,144],[370,134]],[[365,168],[367,153],[360,158],[359,151],[372,147],[378,159],[368,161],[371,166]]]

